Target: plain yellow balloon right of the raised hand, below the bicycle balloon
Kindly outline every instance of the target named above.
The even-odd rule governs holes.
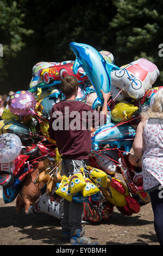
[[[115,105],[115,107],[111,111],[111,119],[116,123],[120,121],[126,121],[133,117],[134,112],[138,109],[138,107],[134,106],[127,101],[121,101]]]

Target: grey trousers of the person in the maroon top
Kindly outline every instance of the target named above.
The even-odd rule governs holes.
[[[78,173],[81,167],[89,165],[89,160],[62,159],[61,164],[61,175],[69,177],[70,175]],[[75,230],[82,228],[83,203],[77,203],[73,200],[70,202],[66,199],[62,199],[60,208],[62,209],[62,230],[70,231],[71,234],[73,234]]]

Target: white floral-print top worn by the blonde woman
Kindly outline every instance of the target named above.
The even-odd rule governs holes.
[[[163,186],[163,119],[149,118],[143,130],[143,188],[151,192]]]

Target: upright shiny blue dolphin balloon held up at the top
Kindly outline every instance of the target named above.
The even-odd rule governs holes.
[[[77,57],[73,65],[74,74],[77,74],[78,69],[82,66],[85,74],[89,77],[96,90],[98,97],[93,102],[92,108],[95,109],[98,106],[102,106],[103,95],[101,89],[104,93],[110,92],[110,73],[112,70],[119,70],[120,68],[112,63],[106,62],[101,53],[90,45],[70,42],[70,47]]]

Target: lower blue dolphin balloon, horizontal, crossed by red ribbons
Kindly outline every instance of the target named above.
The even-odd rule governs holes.
[[[92,150],[98,150],[99,145],[109,144],[111,147],[125,147],[128,152],[133,144],[135,129],[129,125],[116,126],[114,123],[106,123],[99,127],[92,136]]]

